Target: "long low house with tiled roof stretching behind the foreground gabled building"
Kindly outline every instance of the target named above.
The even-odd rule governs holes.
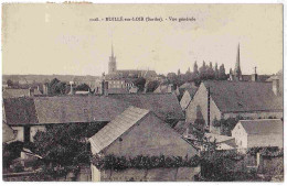
[[[50,124],[106,124],[129,106],[150,109],[167,122],[184,120],[176,96],[108,95],[23,97],[3,99],[3,121],[18,131],[17,140],[33,141],[36,131]]]

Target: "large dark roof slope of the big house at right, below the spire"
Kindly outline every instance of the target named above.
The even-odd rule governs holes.
[[[222,112],[283,111],[283,98],[274,95],[270,83],[208,80],[203,84]]]

